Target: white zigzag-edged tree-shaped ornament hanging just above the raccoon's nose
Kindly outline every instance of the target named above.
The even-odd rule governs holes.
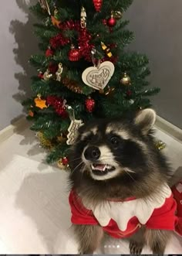
[[[72,120],[71,124],[69,125],[68,131],[69,134],[67,135],[67,145],[73,145],[76,141],[76,137],[77,137],[77,132],[79,127],[81,127],[83,125],[83,121],[82,120]]]

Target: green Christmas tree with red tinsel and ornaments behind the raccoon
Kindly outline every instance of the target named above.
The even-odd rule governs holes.
[[[34,97],[23,104],[49,163],[69,166],[79,126],[150,107],[147,56],[126,51],[133,32],[123,13],[132,0],[39,0],[31,7],[42,54],[31,56]]]

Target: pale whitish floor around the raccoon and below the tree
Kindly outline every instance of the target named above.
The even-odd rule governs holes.
[[[182,166],[180,142],[157,131],[174,169]],[[0,254],[77,254],[68,204],[67,173],[44,162],[29,129],[0,144]],[[128,254],[126,241],[106,241],[97,253]],[[180,254],[173,237],[166,254]],[[145,248],[143,253],[151,252]]]

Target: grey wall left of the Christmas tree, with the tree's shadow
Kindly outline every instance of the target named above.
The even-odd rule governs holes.
[[[29,94],[32,69],[28,60],[37,50],[37,43],[28,4],[28,0],[1,0],[0,130],[22,114],[19,101],[23,97],[19,93]]]

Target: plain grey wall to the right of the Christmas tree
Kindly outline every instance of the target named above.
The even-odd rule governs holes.
[[[136,39],[130,49],[146,53],[160,117],[182,128],[182,1],[134,0],[126,12]]]

